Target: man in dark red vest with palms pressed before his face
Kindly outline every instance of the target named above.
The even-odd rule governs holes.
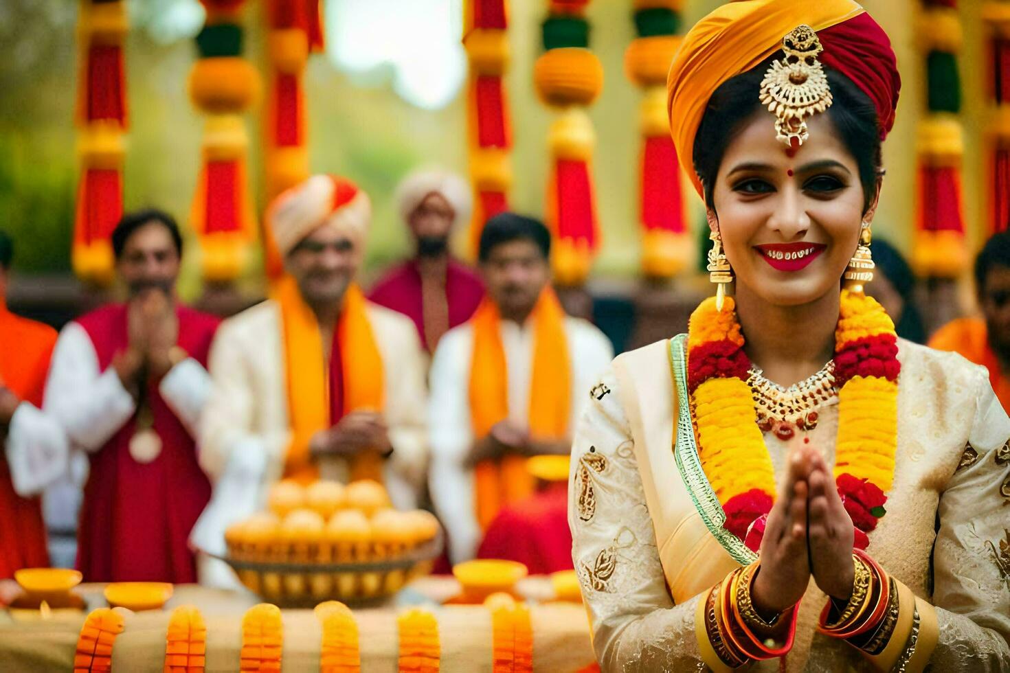
[[[78,568],[93,582],[195,582],[187,540],[210,483],[194,437],[217,319],[176,297],[182,237],[168,214],[124,215],[112,249],[128,299],[64,328],[45,388],[46,413],[90,467]]]

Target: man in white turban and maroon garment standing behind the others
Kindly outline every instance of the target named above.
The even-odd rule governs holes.
[[[459,176],[424,170],[404,179],[396,194],[414,256],[383,276],[369,299],[413,320],[421,344],[434,352],[442,334],[469,320],[484,297],[480,276],[448,251],[452,229],[470,219],[470,188]]]

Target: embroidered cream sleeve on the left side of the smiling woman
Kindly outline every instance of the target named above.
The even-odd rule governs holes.
[[[616,388],[608,369],[588,394],[572,448],[572,557],[596,656],[604,671],[703,671],[699,597],[674,605],[667,590]]]

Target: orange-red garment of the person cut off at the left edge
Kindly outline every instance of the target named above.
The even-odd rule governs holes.
[[[10,313],[0,300],[0,378],[25,402],[41,407],[57,332]],[[38,497],[14,492],[5,452],[0,451],[0,579],[19,568],[47,566],[45,525]]]

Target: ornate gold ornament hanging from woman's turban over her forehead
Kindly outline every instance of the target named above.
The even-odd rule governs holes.
[[[761,102],[776,116],[776,139],[802,145],[810,134],[807,119],[831,106],[827,75],[817,57],[823,51],[810,26],[796,26],[782,38],[785,58],[776,61],[761,83]]]

